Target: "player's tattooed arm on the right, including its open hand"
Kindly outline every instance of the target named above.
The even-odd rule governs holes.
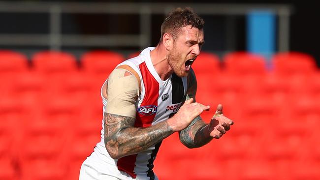
[[[195,99],[197,83],[193,70],[190,71],[187,79],[187,99]],[[209,124],[206,124],[200,116],[197,116],[187,128],[180,131],[180,141],[188,148],[198,148],[209,143],[213,138],[219,139],[230,129],[232,124],[232,120],[223,116],[222,105],[218,105],[214,118]]]

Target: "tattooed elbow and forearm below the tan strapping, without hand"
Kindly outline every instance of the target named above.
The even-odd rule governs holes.
[[[146,150],[173,133],[166,121],[141,128],[133,127],[130,117],[104,113],[103,120],[104,144],[114,159]]]

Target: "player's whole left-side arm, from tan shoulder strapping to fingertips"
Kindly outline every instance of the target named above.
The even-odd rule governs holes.
[[[173,132],[186,128],[196,116],[209,108],[199,103],[192,103],[191,99],[168,120],[146,128],[134,127],[138,88],[128,91],[128,87],[134,87],[129,85],[132,82],[138,83],[127,71],[118,74],[113,72],[108,78],[108,103],[103,117],[104,144],[114,159],[148,149]]]

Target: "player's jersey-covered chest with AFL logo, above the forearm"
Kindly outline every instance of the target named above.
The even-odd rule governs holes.
[[[187,82],[172,75],[165,82],[145,81],[137,104],[135,126],[148,127],[173,116],[184,102]]]

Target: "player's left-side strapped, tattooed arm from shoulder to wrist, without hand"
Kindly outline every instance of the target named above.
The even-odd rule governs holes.
[[[108,78],[104,144],[114,159],[146,150],[173,133],[166,121],[147,128],[133,127],[139,81],[131,71],[122,68],[112,71]]]

